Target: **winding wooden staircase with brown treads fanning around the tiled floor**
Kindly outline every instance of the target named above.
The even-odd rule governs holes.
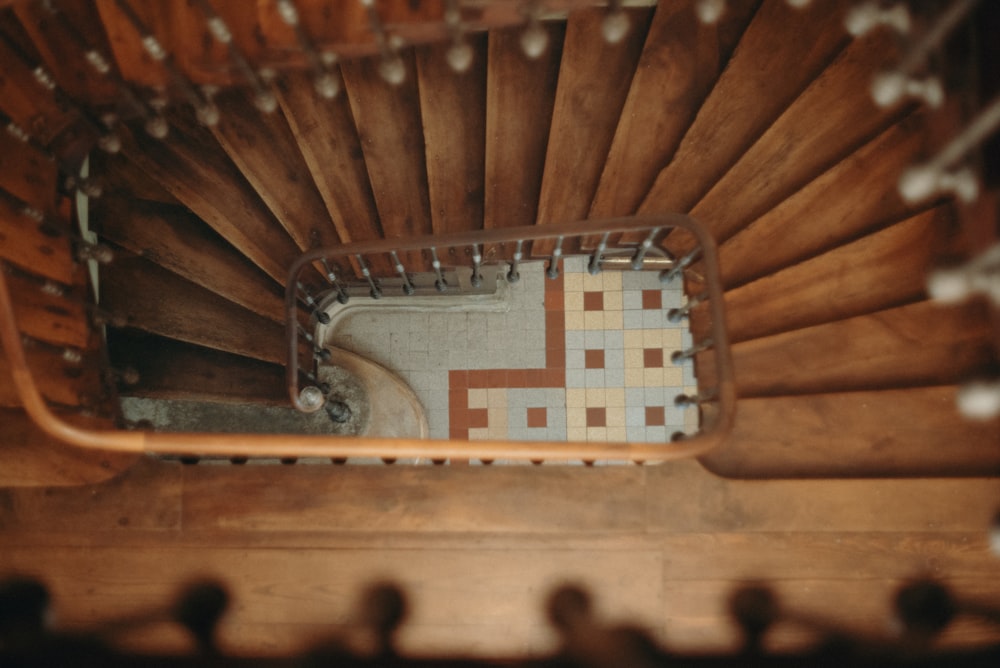
[[[739,395],[705,467],[1000,472],[1000,423],[955,409],[960,383],[996,373],[996,310],[925,290],[997,238],[996,143],[971,155],[975,202],[897,188],[997,92],[992,3],[921,64],[946,82],[938,108],[869,91],[947,3],[920,3],[910,37],[853,38],[848,0],[731,0],[711,23],[693,0],[527,3],[528,44],[515,2],[303,1],[291,22],[269,2],[2,4],[0,110],[21,130],[0,137],[0,256],[67,419],[111,424],[120,395],[286,401],[283,284],[310,248],[681,212],[720,246]],[[107,250],[94,280],[82,260]],[[0,405],[5,484],[133,461],[53,442],[6,380]]]

